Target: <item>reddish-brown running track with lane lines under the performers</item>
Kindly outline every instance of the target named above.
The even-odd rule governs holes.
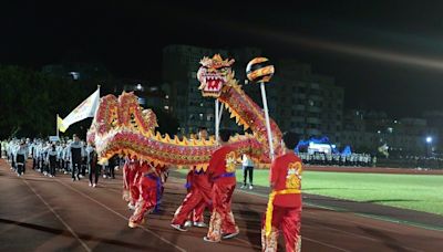
[[[95,189],[86,179],[72,182],[66,175],[48,178],[31,169],[17,177],[0,159],[0,251],[260,251],[266,197],[237,191],[233,210],[240,235],[214,244],[203,241],[206,229],[169,227],[185,196],[182,179],[168,179],[163,211],[137,229],[127,228],[131,211],[121,185],[121,176],[101,179]],[[301,233],[302,251],[443,250],[443,232],[309,206]]]

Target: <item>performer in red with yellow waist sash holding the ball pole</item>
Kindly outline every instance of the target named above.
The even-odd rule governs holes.
[[[284,154],[278,156],[270,169],[270,188],[268,208],[261,229],[262,251],[277,251],[279,229],[281,228],[286,251],[301,250],[301,159],[293,153],[298,144],[295,133],[285,133]]]

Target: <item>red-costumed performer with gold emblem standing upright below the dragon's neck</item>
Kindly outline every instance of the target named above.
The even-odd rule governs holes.
[[[204,241],[219,242],[222,239],[234,238],[239,230],[230,210],[231,197],[236,187],[236,153],[229,146],[229,132],[220,130],[220,147],[214,151],[207,172],[213,181],[209,230]]]

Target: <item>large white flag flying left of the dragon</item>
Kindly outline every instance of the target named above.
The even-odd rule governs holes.
[[[96,90],[90,97],[87,97],[83,103],[81,103],[74,111],[72,111],[62,122],[62,127],[60,127],[60,132],[64,133],[69,126],[85,119],[87,117],[94,117],[95,112],[99,107],[100,102],[100,88]]]

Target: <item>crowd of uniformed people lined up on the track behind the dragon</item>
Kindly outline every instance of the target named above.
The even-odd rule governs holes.
[[[94,146],[84,144],[75,134],[72,140],[56,143],[37,138],[3,140],[1,150],[2,157],[8,159],[18,176],[24,175],[27,161],[32,159],[32,169],[48,177],[55,177],[59,171],[71,174],[75,181],[85,177],[87,171],[91,187],[96,187],[102,170],[103,178],[115,179],[115,167],[120,166],[117,156],[103,166],[99,165]]]

